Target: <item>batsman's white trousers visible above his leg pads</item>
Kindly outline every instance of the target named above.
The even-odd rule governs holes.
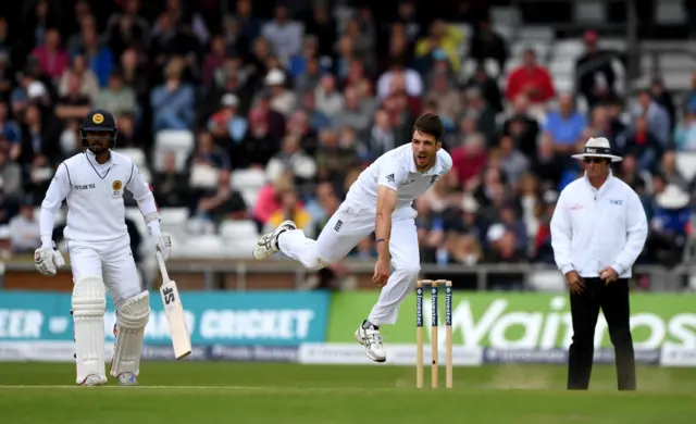
[[[127,234],[115,240],[66,240],[66,245],[73,283],[83,275],[102,277],[116,311],[123,302],[142,292]]]

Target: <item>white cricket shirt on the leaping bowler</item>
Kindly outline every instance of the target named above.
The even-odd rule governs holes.
[[[444,149],[437,151],[435,164],[420,172],[413,161],[411,144],[399,146],[377,158],[360,173],[350,186],[346,199],[377,209],[377,186],[387,186],[397,191],[396,210],[410,208],[413,200],[423,195],[452,167],[452,158]]]

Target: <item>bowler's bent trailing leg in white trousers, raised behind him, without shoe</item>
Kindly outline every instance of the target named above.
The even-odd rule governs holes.
[[[308,270],[321,270],[340,261],[374,229],[374,216],[344,212],[339,209],[326,223],[316,240],[301,229],[283,232],[278,247],[283,253]]]

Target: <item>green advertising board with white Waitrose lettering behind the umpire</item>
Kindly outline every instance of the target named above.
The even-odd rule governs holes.
[[[427,295],[426,295],[427,298]],[[376,292],[346,292],[332,297],[328,342],[353,341],[352,334],[368,316]],[[439,340],[444,341],[444,296],[439,299]],[[431,325],[431,302],[423,302],[425,325]],[[631,296],[631,327],[636,350],[696,349],[696,296],[637,294]],[[415,342],[415,297],[405,301],[395,325],[382,327],[385,342]],[[455,291],[452,344],[496,349],[568,348],[572,320],[568,296]],[[430,328],[424,332],[430,338]],[[428,340],[430,342],[430,340]],[[611,347],[600,312],[595,346]]]

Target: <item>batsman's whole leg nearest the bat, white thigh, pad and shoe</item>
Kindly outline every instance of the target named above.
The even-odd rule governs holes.
[[[140,287],[129,237],[123,237],[100,252],[104,282],[116,310],[111,376],[121,386],[137,386],[145,327],[150,319],[150,295]]]

